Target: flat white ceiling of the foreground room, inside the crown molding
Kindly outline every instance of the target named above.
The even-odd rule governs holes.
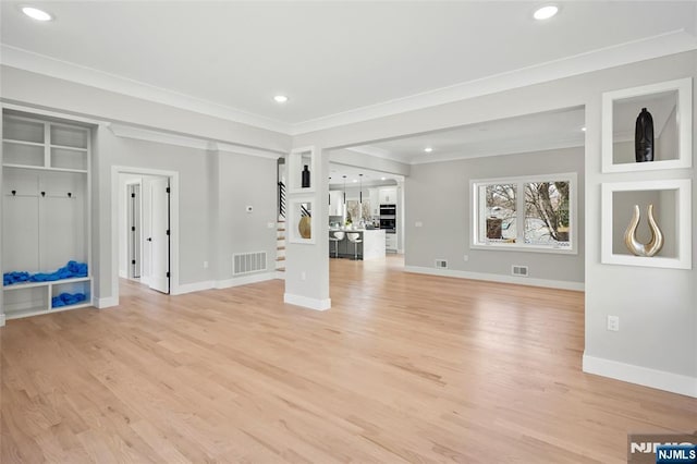
[[[695,2],[26,3],[1,2],[8,65],[291,134],[697,48]]]

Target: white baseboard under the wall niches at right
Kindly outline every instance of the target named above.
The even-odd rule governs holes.
[[[697,398],[697,378],[584,354],[584,373]]]

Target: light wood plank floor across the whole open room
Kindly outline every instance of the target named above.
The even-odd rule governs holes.
[[[331,260],[333,308],[283,282],[11,320],[2,463],[623,463],[697,400],[580,371],[583,294]]]

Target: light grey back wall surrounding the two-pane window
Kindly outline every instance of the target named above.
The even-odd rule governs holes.
[[[470,248],[470,181],[566,172],[578,175],[576,230],[580,233],[577,233],[577,254]],[[528,280],[583,286],[583,147],[415,164],[405,180],[405,197],[407,267],[435,269],[436,259],[447,259],[450,270],[491,274],[494,279],[496,276],[510,277],[511,266],[522,265],[528,266]],[[416,222],[423,225],[417,228]],[[526,282],[525,278],[518,279]]]

